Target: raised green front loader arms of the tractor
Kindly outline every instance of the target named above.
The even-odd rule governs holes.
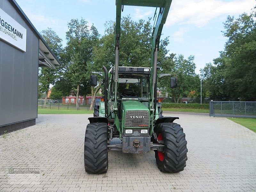
[[[114,111],[117,111],[117,83],[118,83],[118,66],[119,66],[119,46],[120,46],[120,33],[121,33],[121,11],[124,5],[131,6],[146,6],[146,7],[158,7],[159,13],[156,19],[156,25],[153,29],[151,45],[151,72],[150,72],[150,100],[149,108],[152,119],[155,119],[156,115],[156,64],[157,54],[159,50],[160,36],[164,23],[166,21],[172,0],[116,0],[116,28],[115,28],[115,104]]]

